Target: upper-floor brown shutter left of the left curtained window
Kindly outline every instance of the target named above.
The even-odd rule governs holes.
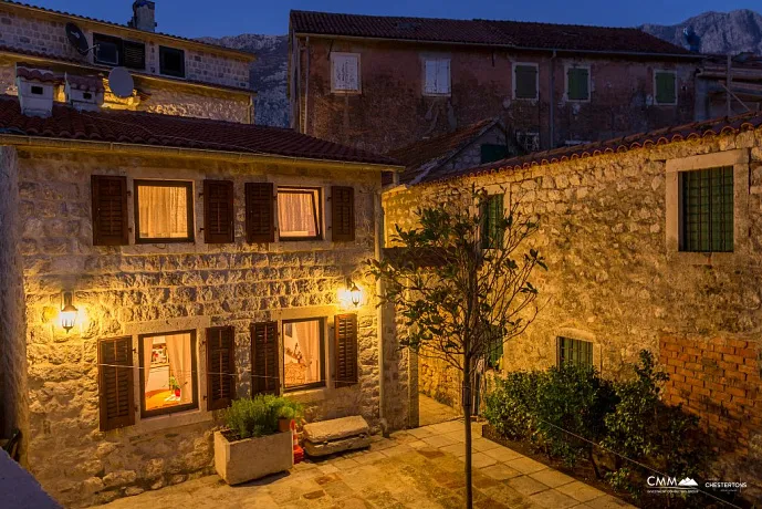
[[[93,175],[93,246],[126,246],[127,177]]]

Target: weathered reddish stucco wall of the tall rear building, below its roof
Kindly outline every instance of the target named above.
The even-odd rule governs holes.
[[[305,41],[300,40],[300,45],[303,48]],[[330,52],[361,54],[361,94],[331,93]],[[693,120],[696,66],[690,63],[556,58],[551,101],[550,53],[314,37],[310,39],[309,53],[309,86],[307,52],[300,54],[298,127],[304,126],[306,115],[309,134],[375,152],[398,148],[411,139],[494,116],[515,132],[540,133],[542,148],[566,141],[608,139]],[[450,58],[449,97],[422,95],[425,54]],[[512,64],[516,62],[539,64],[537,101],[513,98]],[[565,69],[573,63],[591,65],[589,102],[565,100]],[[654,104],[655,69],[677,70],[677,106]],[[292,69],[292,80],[294,73]],[[292,97],[295,100],[296,96]],[[555,106],[553,141],[551,102]]]

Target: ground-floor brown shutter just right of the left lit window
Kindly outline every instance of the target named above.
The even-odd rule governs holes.
[[[230,406],[236,397],[236,331],[232,326],[207,329],[207,409]]]

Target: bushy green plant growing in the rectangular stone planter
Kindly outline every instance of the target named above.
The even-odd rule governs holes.
[[[258,395],[234,399],[225,413],[226,426],[239,438],[260,437],[278,432],[279,418],[299,418],[302,406],[284,397]]]

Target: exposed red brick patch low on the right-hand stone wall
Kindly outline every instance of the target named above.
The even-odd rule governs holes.
[[[730,451],[720,463],[720,479],[748,482],[748,495],[758,499],[762,497],[761,360],[760,344],[751,337],[682,334],[659,341],[659,361],[670,378],[665,399],[698,415],[720,447]]]

